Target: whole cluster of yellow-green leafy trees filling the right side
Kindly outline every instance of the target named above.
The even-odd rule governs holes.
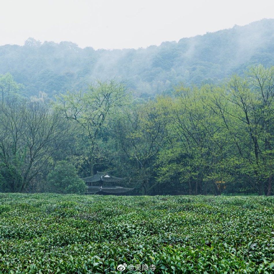
[[[273,75],[273,67],[258,65],[223,85],[178,86],[164,102],[171,124],[157,157],[157,181],[188,185],[189,194],[249,187],[271,195]]]

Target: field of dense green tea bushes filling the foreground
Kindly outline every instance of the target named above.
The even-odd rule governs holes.
[[[0,194],[0,273],[274,273],[274,197]]]

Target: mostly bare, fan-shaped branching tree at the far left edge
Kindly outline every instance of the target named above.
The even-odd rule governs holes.
[[[49,101],[10,100],[0,104],[0,115],[2,175],[12,192],[33,191],[67,138],[66,121]]]

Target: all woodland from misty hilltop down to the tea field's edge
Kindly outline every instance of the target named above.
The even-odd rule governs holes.
[[[79,177],[108,171],[135,194],[272,195],[273,30],[1,46],[0,191],[84,193]]]

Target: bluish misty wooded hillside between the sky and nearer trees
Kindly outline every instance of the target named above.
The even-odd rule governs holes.
[[[179,82],[217,82],[254,63],[274,64],[274,19],[138,50],[82,49],[33,38],[24,46],[0,46],[0,74],[10,72],[26,95],[44,91],[50,97],[113,77],[138,96],[148,96],[168,92]]]

